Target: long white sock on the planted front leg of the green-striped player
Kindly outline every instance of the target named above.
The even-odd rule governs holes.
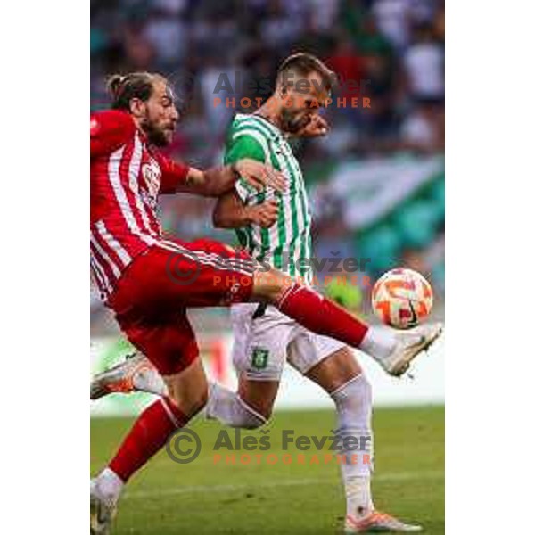
[[[366,437],[366,451],[341,449],[339,454],[348,461],[357,454],[358,463],[341,463],[342,480],[346,493],[347,514],[365,516],[374,510],[371,490],[374,443],[372,433],[372,389],[366,376],[361,374],[342,385],[331,394],[338,415],[337,435],[342,443],[344,437]],[[361,442],[361,440],[359,440]],[[362,442],[361,442],[362,443]],[[368,455],[370,463],[363,463]]]

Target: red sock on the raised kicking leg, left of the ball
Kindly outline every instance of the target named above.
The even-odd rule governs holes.
[[[277,309],[317,334],[358,348],[368,326],[307,286],[292,284],[276,303]]]

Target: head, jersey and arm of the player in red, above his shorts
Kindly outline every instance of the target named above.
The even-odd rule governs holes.
[[[202,172],[163,157],[155,147],[170,143],[178,120],[165,78],[133,74],[112,78],[110,84],[116,109],[92,115],[90,127],[91,266],[104,299],[136,256],[161,244],[158,195],[182,191],[218,196],[234,186],[236,172],[257,188],[269,181],[276,188],[284,184],[273,169],[252,160]],[[149,95],[152,84],[153,106],[130,98]],[[123,109],[130,101],[132,113]]]

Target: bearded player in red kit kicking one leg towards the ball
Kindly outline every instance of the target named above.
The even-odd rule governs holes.
[[[410,345],[350,316],[309,287],[224,243],[185,243],[161,233],[155,206],[162,193],[219,196],[237,177],[281,191],[284,177],[259,161],[201,171],[165,158],[177,126],[175,98],[157,74],[111,78],[112,110],[91,117],[91,266],[120,329],[156,367],[167,395],[138,417],[110,464],[91,481],[91,532],[108,533],[124,484],[177,428],[204,407],[208,384],[186,317],[190,307],[262,301],[310,331],[366,350],[389,373],[406,371],[432,339]]]

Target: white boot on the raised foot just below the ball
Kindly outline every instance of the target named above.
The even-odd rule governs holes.
[[[400,377],[405,374],[410,363],[440,336],[444,327],[442,324],[421,325],[407,332],[398,333],[395,349],[388,357],[378,359],[379,364],[387,374]]]

